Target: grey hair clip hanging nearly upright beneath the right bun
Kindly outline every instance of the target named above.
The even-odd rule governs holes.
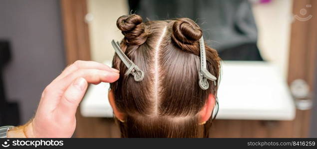
[[[209,83],[207,79],[215,81],[217,78],[210,74],[207,70],[207,62],[206,62],[206,50],[205,50],[205,43],[203,36],[199,39],[199,46],[200,46],[200,71],[199,71],[199,86],[203,90],[209,88]]]

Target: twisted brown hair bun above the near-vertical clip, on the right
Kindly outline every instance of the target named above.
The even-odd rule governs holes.
[[[197,42],[203,31],[200,27],[189,18],[179,18],[173,24],[172,40],[183,50],[191,53],[192,50],[197,49],[199,42]]]

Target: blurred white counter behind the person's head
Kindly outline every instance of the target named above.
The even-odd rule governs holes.
[[[286,79],[273,64],[225,61],[217,119],[293,120],[295,105]],[[198,83],[198,82],[197,82]],[[109,83],[91,84],[80,104],[85,117],[112,117]]]

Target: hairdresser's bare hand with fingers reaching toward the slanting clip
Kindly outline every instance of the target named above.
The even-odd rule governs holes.
[[[44,89],[35,117],[23,128],[27,138],[67,138],[75,131],[75,113],[87,83],[114,82],[119,71],[91,61],[76,61]],[[8,134],[9,135],[9,134]]]

